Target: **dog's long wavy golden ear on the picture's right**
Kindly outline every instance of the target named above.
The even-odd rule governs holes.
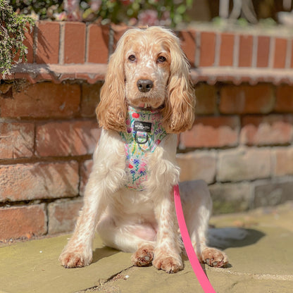
[[[167,42],[171,63],[168,96],[163,109],[163,125],[166,132],[179,133],[193,125],[195,96],[189,80],[189,63],[180,48],[180,41],[175,35],[169,35]]]

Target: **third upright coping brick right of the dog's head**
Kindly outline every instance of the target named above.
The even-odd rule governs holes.
[[[232,66],[234,54],[234,36],[233,34],[223,32],[220,35],[220,66]]]

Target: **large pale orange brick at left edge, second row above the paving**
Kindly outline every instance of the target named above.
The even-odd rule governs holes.
[[[27,163],[0,165],[0,201],[75,197],[78,163]]]

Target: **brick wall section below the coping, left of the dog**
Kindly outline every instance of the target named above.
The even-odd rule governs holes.
[[[0,85],[0,239],[72,230],[101,130],[101,82]]]

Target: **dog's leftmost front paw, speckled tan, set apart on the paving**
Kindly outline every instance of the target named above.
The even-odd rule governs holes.
[[[92,251],[87,254],[82,254],[80,251],[67,251],[64,250],[59,256],[64,268],[82,268],[83,266],[89,266],[92,261]]]

